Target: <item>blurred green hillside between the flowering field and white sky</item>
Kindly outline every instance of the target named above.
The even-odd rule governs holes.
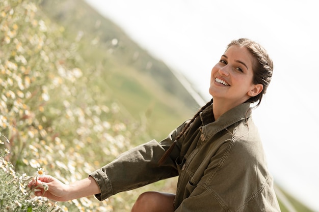
[[[97,85],[105,87],[105,96],[118,99],[132,117],[146,120],[155,138],[163,138],[163,133],[199,108],[161,60],[141,49],[86,3],[43,1],[41,7],[52,21],[65,27],[68,39],[82,36],[77,51],[90,64],[86,71],[99,78]]]

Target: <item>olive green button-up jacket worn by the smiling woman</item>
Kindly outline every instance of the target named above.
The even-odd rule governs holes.
[[[120,155],[90,174],[101,190],[96,197],[178,175],[175,211],[280,211],[249,109],[244,103],[215,121],[207,107],[162,165],[159,159],[187,122],[160,143],[152,140]]]

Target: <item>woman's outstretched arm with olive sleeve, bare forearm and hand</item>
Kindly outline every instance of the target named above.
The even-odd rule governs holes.
[[[180,129],[182,127],[179,127]],[[179,129],[178,128],[178,129]],[[68,201],[90,195],[104,200],[118,192],[135,189],[154,181],[176,176],[178,174],[175,158],[178,150],[171,154],[170,160],[158,165],[165,149],[173,143],[176,130],[161,143],[155,140],[137,146],[121,154],[111,163],[95,170],[88,178],[76,181],[70,185],[50,175],[39,177],[29,183],[30,188],[36,188],[36,196],[44,196],[55,201]],[[177,152],[176,152],[177,151]]]

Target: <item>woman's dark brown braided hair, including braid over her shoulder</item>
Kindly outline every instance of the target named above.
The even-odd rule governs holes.
[[[260,105],[261,99],[263,95],[266,93],[266,90],[268,88],[268,85],[272,79],[273,75],[273,61],[269,57],[267,51],[258,43],[246,39],[246,38],[240,38],[238,40],[233,40],[231,41],[228,45],[226,50],[232,46],[232,45],[237,45],[240,47],[245,47],[255,58],[256,61],[254,63],[253,67],[253,84],[262,84],[263,89],[255,97],[251,97],[250,99],[247,100],[247,102],[250,103],[256,103],[257,105],[255,107],[258,107]],[[191,124],[194,122],[196,117],[208,106],[212,104],[212,99],[206,103],[195,115],[194,117],[190,120],[190,122],[185,125],[183,130],[176,136],[174,143],[166,150],[165,154],[162,156],[162,158],[158,161],[158,164],[162,164],[165,162],[167,157],[171,154],[174,146],[176,145],[176,141],[181,138],[184,133],[189,129]]]

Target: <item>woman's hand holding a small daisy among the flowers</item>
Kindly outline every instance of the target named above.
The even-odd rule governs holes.
[[[55,201],[68,201],[68,185],[50,175],[40,176],[33,179],[28,184],[29,188],[34,188],[36,196],[44,196]]]

